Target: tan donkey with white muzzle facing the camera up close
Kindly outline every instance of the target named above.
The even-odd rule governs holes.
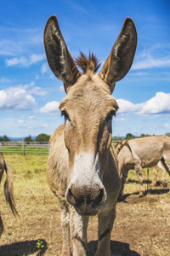
[[[112,118],[118,109],[111,93],[130,69],[136,44],[136,28],[127,18],[104,67],[96,73],[100,63],[94,54],[87,57],[81,52],[73,61],[55,15],[45,26],[48,65],[64,82],[67,94],[59,105],[65,125],[50,137],[47,170],[48,185],[61,209],[62,255],[87,255],[88,217],[95,214],[99,219],[95,255],[111,255],[111,230],[121,186],[111,147]]]

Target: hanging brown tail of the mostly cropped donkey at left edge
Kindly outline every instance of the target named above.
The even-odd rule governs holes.
[[[6,181],[4,183],[5,199],[8,202],[8,205],[10,206],[13,214],[16,215],[18,214],[18,212],[15,208],[14,196],[13,196],[13,173],[12,173],[12,169],[10,168],[10,166],[8,166],[5,160],[4,160],[4,169],[7,175]]]

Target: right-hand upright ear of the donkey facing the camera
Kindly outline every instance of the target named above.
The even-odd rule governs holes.
[[[111,93],[115,83],[121,80],[129,71],[137,46],[137,32],[133,20],[127,18],[122,26],[122,31],[111,49],[111,54],[99,72],[101,79],[110,86]]]

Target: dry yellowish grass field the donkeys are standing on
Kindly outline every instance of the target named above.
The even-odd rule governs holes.
[[[48,155],[4,155],[14,173],[14,199],[19,216],[7,207],[0,188],[5,230],[1,236],[1,256],[61,255],[62,230],[59,205],[46,182]],[[166,174],[167,175],[167,174]],[[161,173],[158,179],[161,181]],[[151,181],[150,172],[149,180]],[[168,177],[167,177],[168,178]],[[160,183],[161,184],[161,183]],[[150,189],[144,172],[144,187],[148,194],[138,197],[136,175],[129,172],[125,187],[125,202],[116,206],[117,218],[111,233],[111,253],[117,256],[170,255],[170,183]],[[97,247],[97,218],[88,225],[88,256]]]

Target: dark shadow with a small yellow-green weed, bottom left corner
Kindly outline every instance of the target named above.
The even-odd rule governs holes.
[[[48,248],[47,242],[43,239],[32,241],[19,241],[0,247],[1,256],[23,256],[31,253],[43,255]]]

